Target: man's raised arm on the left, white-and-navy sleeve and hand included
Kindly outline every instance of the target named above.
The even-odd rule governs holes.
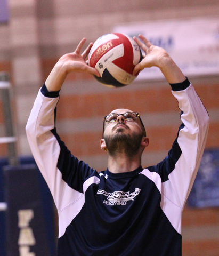
[[[69,202],[74,201],[74,198],[81,195],[75,193],[75,190],[71,188],[72,186],[67,185],[67,178],[63,180],[63,177],[68,176],[64,171],[71,170],[76,160],[71,156],[56,133],[55,108],[59,101],[59,90],[70,72],[85,72],[99,76],[98,71],[89,67],[86,63],[87,55],[93,44],[90,43],[87,49],[80,54],[85,41],[86,39],[83,38],[75,52],[65,54],[55,64],[45,85],[38,92],[26,125],[30,149],[51,190],[58,211],[67,207],[70,204]],[[60,156],[64,161],[59,162]],[[71,172],[71,174],[74,173]],[[83,172],[80,172],[80,174],[83,176]],[[83,177],[80,180],[72,180],[77,183],[77,191],[82,191],[82,185],[79,181],[83,182]],[[62,200],[62,198],[65,199]]]

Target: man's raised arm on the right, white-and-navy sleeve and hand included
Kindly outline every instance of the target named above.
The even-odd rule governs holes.
[[[179,211],[181,214],[196,178],[207,140],[209,116],[194,87],[168,53],[163,48],[152,45],[142,35],[139,35],[139,38],[134,37],[134,40],[146,55],[135,66],[133,74],[144,68],[153,66],[160,68],[171,85],[172,94],[181,109],[182,124],[177,138],[172,149],[169,150],[168,157],[160,162],[159,171],[157,171],[163,182],[162,207],[172,225],[180,233],[181,222],[175,222],[173,213]]]

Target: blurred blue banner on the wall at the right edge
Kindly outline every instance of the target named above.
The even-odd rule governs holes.
[[[205,150],[188,204],[195,207],[219,206],[219,149]]]

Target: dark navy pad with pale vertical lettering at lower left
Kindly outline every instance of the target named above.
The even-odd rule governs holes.
[[[53,256],[37,166],[5,166],[4,181],[6,255]]]

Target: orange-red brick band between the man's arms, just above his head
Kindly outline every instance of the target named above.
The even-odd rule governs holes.
[[[92,95],[62,95],[58,111],[60,118],[91,116],[91,113],[107,115],[113,109],[127,108],[139,113],[158,111],[175,111],[177,102],[169,89],[155,97],[155,90],[139,90],[136,92],[96,93]],[[145,95],[145,97],[144,97]],[[162,97],[163,95],[163,97]],[[165,97],[164,97],[165,95]]]

